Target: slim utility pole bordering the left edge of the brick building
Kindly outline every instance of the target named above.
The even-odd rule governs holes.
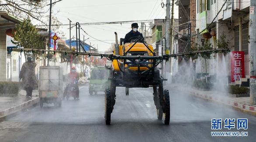
[[[172,0],[171,24],[170,24],[170,52],[173,54],[173,26],[174,25],[174,0]],[[173,60],[170,58],[170,72],[173,69]]]

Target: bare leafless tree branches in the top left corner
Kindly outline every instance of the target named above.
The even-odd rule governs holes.
[[[15,17],[21,19],[32,17],[38,21],[42,21],[48,13],[45,6],[48,0],[0,0],[0,10],[7,11]]]

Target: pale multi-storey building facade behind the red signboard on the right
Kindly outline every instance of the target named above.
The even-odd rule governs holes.
[[[226,36],[231,51],[245,52],[245,78],[242,85],[249,86],[249,13],[250,0],[196,0],[196,43],[203,45],[210,42],[217,46],[221,35]],[[211,36],[206,36],[206,35]],[[214,57],[218,59],[218,56]],[[227,60],[228,76],[230,77],[230,59]],[[218,61],[208,63],[218,66]],[[216,74],[209,70],[209,75]],[[239,84],[239,81],[235,81]]]

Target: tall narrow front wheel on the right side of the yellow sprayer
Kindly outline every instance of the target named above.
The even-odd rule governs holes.
[[[169,125],[170,124],[170,95],[168,90],[164,90],[163,97],[165,102],[163,120],[165,125]]]

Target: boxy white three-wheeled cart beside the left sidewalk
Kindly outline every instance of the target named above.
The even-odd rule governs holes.
[[[54,103],[61,106],[63,90],[62,68],[59,66],[41,66],[39,68],[39,105]]]

